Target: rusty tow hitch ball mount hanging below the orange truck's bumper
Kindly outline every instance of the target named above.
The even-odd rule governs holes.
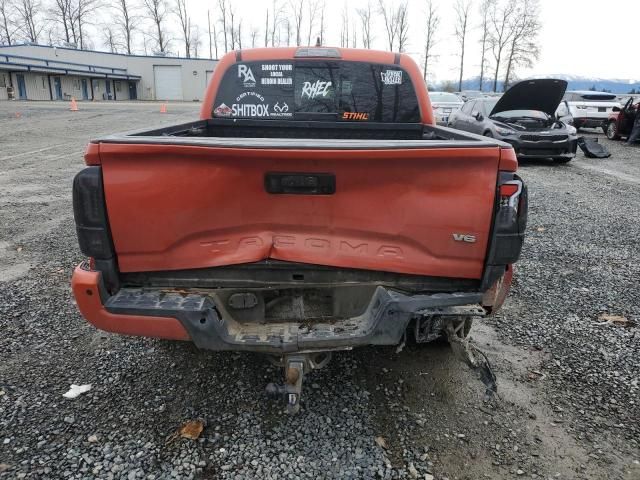
[[[283,398],[287,403],[287,413],[293,414],[300,411],[302,381],[305,374],[329,363],[331,352],[296,353],[269,359],[274,365],[284,367],[284,385],[268,384],[267,394]]]

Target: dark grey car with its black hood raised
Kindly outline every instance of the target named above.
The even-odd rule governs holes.
[[[449,117],[449,126],[511,144],[518,158],[566,163],[576,154],[576,129],[555,118],[567,82],[524,80],[500,98],[477,98]]]

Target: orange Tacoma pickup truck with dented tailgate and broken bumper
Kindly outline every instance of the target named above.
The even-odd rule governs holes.
[[[200,120],[93,140],[85,162],[82,315],[268,354],[292,411],[332,351],[464,338],[502,304],[524,239],[512,148],[436,126],[403,54],[229,53]]]

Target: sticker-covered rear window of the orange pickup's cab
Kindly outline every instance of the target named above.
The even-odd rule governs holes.
[[[246,62],[224,74],[214,117],[418,123],[409,75],[398,65],[295,60]]]

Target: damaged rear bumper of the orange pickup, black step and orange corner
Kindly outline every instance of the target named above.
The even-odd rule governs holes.
[[[101,330],[125,335],[192,340],[207,350],[282,354],[347,349],[363,345],[396,345],[416,316],[478,315],[495,309],[509,289],[510,271],[498,291],[406,295],[382,286],[375,289],[358,316],[327,323],[252,322],[231,318],[215,295],[168,289],[123,288],[109,296],[101,274],[76,268],[72,287],[82,315]],[[501,297],[501,298],[500,298]]]

